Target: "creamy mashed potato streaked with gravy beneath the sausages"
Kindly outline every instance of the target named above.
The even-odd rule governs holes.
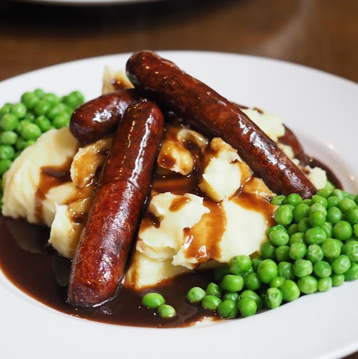
[[[284,134],[279,116],[245,112],[271,139]],[[4,175],[3,214],[50,226],[48,242],[73,257],[110,145],[106,139],[78,148],[68,128],[43,134]],[[294,157],[290,147],[284,150]],[[155,285],[259,250],[273,222],[274,194],[235,149],[174,122],[167,125],[157,163],[125,285]],[[324,187],[323,170],[305,171]]]

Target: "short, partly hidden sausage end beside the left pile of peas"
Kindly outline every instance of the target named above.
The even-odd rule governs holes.
[[[125,109],[138,100],[132,88],[96,97],[74,110],[69,130],[81,144],[98,140],[113,132]]]

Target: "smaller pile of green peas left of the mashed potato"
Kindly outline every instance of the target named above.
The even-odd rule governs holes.
[[[84,97],[79,91],[58,97],[40,88],[23,93],[21,102],[6,103],[0,109],[0,208],[2,177],[20,153],[42,133],[69,126],[72,112]]]

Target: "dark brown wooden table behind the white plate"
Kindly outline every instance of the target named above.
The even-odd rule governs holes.
[[[274,57],[358,82],[358,1],[0,4],[0,81],[59,62],[144,48]]]

